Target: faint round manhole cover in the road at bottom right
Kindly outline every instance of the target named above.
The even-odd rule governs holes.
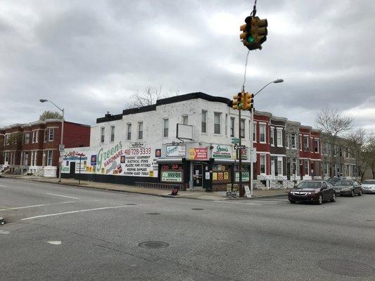
[[[374,274],[374,268],[368,264],[346,259],[324,259],[317,264],[319,268],[339,275],[366,277]]]

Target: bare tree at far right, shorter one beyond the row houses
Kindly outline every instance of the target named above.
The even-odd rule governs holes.
[[[361,175],[361,181],[363,181],[364,171],[366,171],[368,166],[367,158],[369,157],[366,151],[366,132],[362,128],[357,129],[346,136],[345,142],[348,148],[350,148],[350,152],[355,157],[355,165],[357,166],[358,173]]]

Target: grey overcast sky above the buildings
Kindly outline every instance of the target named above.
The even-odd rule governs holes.
[[[94,124],[146,86],[232,98],[247,48],[239,26],[253,1],[0,0],[0,127],[53,105]],[[257,110],[305,125],[325,106],[375,132],[375,2],[258,0],[268,20],[250,51],[246,90]]]

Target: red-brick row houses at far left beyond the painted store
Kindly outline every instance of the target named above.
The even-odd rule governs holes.
[[[64,122],[65,148],[88,146],[90,126]],[[0,171],[56,177],[61,119],[0,128]]]

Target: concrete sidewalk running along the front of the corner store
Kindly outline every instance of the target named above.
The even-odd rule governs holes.
[[[16,178],[25,181],[39,181],[42,183],[58,183],[58,178],[44,178],[39,176],[20,176],[20,175],[2,175],[4,178]],[[123,192],[132,192],[132,193],[139,193],[139,194],[146,194],[146,195],[155,195],[155,196],[162,196],[168,197],[170,195],[171,190],[162,190],[157,188],[138,188],[133,185],[122,185],[122,184],[115,184],[115,183],[98,183],[94,181],[81,181],[79,184],[78,180],[73,178],[61,178],[61,183],[63,185],[72,185],[72,186],[81,186],[85,188],[97,188],[103,190],[115,190],[115,191],[123,191]],[[255,199],[255,198],[265,198],[265,197],[274,197],[274,196],[286,196],[288,195],[288,190],[253,190],[253,197],[252,198],[229,198],[224,191],[218,192],[205,192],[205,191],[179,191],[177,197],[178,198],[190,198],[190,199],[198,199],[198,200],[243,200],[243,199]]]

